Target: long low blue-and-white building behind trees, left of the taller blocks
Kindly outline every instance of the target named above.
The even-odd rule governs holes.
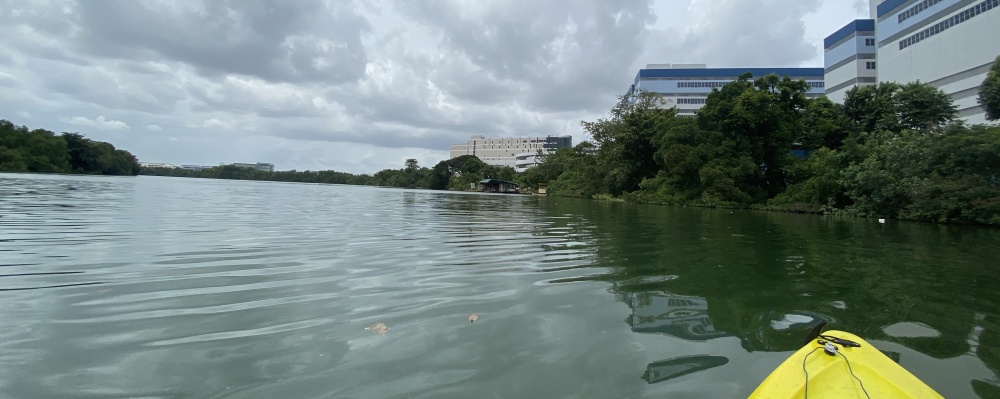
[[[809,84],[807,97],[820,97],[824,93],[823,68],[708,68],[705,64],[648,64],[640,69],[629,94],[646,90],[659,94],[667,107],[677,107],[679,115],[694,115],[705,105],[714,88],[750,72],[754,78],[769,74],[802,79]]]

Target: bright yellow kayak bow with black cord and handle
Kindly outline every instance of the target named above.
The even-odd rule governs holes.
[[[826,331],[781,363],[755,398],[940,398],[858,336]]]

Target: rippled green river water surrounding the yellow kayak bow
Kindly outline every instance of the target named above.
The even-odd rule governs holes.
[[[1000,397],[998,244],[895,221],[3,174],[0,397],[738,398],[819,320],[946,397]]]

